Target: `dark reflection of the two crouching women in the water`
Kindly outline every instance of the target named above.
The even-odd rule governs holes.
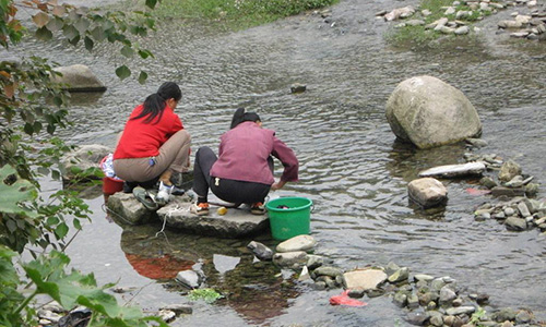
[[[173,280],[178,271],[197,263],[205,286],[224,294],[217,305],[229,306],[252,324],[283,314],[289,300],[299,295],[294,277],[283,277],[271,262],[259,262],[246,247],[249,240],[224,240],[164,231],[161,226],[126,227],[121,250],[133,269],[165,282],[165,289],[186,293]],[[274,246],[272,240],[261,240]]]

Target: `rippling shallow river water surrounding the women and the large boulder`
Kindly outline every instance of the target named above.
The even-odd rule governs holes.
[[[63,65],[87,64],[108,85],[102,95],[74,96],[74,125],[61,134],[69,142],[112,146],[132,108],[164,81],[181,86],[177,113],[192,135],[193,150],[203,145],[216,148],[234,110],[247,107],[299,158],[299,183],[275,196],[313,201],[316,254],[344,269],[394,262],[413,272],[451,276],[467,291],[488,293],[489,310],[527,307],[544,319],[545,237],[537,230],[507,231],[494,220],[475,221],[473,210],[492,201],[465,192],[475,180],[443,181],[449,192],[443,210],[425,213],[411,206],[406,185],[417,172],[462,162],[466,149],[452,145],[417,150],[399,144],[384,106],[403,80],[437,76],[461,89],[476,107],[482,137],[489,143],[476,152],[512,158],[544,184],[546,45],[497,35],[492,17],[480,24],[486,35],[482,43],[429,51],[397,49],[385,44],[389,25],[373,14],[407,4],[342,0],[332,8],[333,26],[319,15],[239,33],[164,22],[142,41],[156,59],[133,61],[133,66],[144,65],[150,73],[144,86],[117,80],[114,70],[121,58],[109,48],[88,55],[63,45],[31,43],[25,53]],[[290,94],[292,83],[307,84],[307,92]],[[544,186],[538,197],[544,198]],[[405,324],[403,312],[388,296],[366,299],[364,308],[331,306],[329,298],[340,290],[316,291],[294,284],[286,271],[278,276],[271,265],[252,264],[245,249],[250,240],[156,234],[161,225],[121,229],[105,218],[102,196],[92,196],[88,204],[93,220],[68,252],[74,266],[94,271],[100,282],[119,280],[119,286],[142,288],[123,294],[123,300],[149,311],[187,302],[176,284],[156,278],[197,262],[209,284],[227,295],[212,305],[197,302],[194,313],[174,326]],[[258,240],[275,245],[269,235]]]

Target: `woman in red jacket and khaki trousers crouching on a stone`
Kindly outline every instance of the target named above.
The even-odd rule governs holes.
[[[116,175],[127,182],[159,179],[156,202],[165,204],[174,189],[173,172],[189,168],[190,134],[183,129],[176,106],[182,93],[164,83],[134,108],[114,152]]]

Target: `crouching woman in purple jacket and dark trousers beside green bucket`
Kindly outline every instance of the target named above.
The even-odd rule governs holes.
[[[198,195],[191,211],[209,214],[209,189],[221,199],[235,204],[250,204],[254,215],[265,213],[263,203],[270,190],[282,189],[286,182],[298,180],[298,159],[275,132],[262,129],[256,112],[237,109],[229,131],[221,136],[218,157],[210,147],[195,154],[193,191]],[[273,158],[284,166],[275,182]]]

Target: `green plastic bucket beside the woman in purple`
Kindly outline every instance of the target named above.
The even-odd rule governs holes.
[[[288,240],[308,234],[311,225],[312,201],[306,197],[280,197],[265,204],[271,234],[275,240]]]

